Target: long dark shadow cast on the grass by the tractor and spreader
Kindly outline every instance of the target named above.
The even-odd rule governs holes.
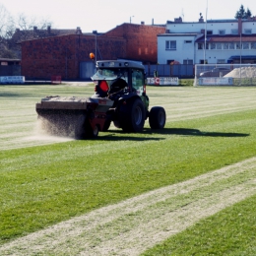
[[[124,133],[122,130],[109,130],[111,134],[106,134],[105,136],[98,137],[101,140],[117,141],[117,140],[130,140],[130,141],[160,141],[164,138],[156,137],[141,137],[140,134],[145,135],[183,135],[183,136],[200,136],[200,137],[247,137],[250,134],[246,133],[222,133],[222,132],[205,132],[198,129],[189,129],[189,128],[164,128],[160,130],[153,130],[150,128],[144,128],[142,133]],[[120,136],[119,136],[120,134]],[[134,136],[135,135],[135,136]]]

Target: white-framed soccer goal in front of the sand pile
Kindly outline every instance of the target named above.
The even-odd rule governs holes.
[[[256,86],[256,64],[197,64],[194,86]]]

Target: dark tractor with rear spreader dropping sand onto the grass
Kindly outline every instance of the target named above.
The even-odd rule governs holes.
[[[38,117],[46,130],[78,139],[96,137],[107,131],[111,122],[124,132],[142,132],[149,118],[152,129],[165,125],[165,110],[149,110],[144,66],[134,61],[97,61],[92,77],[96,87],[91,97],[46,96],[36,104]]]

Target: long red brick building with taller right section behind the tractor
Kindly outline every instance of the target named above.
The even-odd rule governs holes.
[[[73,34],[22,41],[22,75],[27,80],[49,80],[54,75],[79,80],[81,64],[92,64],[91,52],[96,53],[97,60],[125,58],[156,63],[157,34],[162,32],[164,27],[123,24],[104,34],[85,34],[79,29]]]

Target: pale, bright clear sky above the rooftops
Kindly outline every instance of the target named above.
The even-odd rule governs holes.
[[[197,22],[199,14],[208,20],[233,19],[243,4],[256,16],[253,0],[0,0],[12,16],[47,19],[58,29],[107,32],[123,23],[165,24],[182,17]],[[208,8],[207,8],[208,7]]]

